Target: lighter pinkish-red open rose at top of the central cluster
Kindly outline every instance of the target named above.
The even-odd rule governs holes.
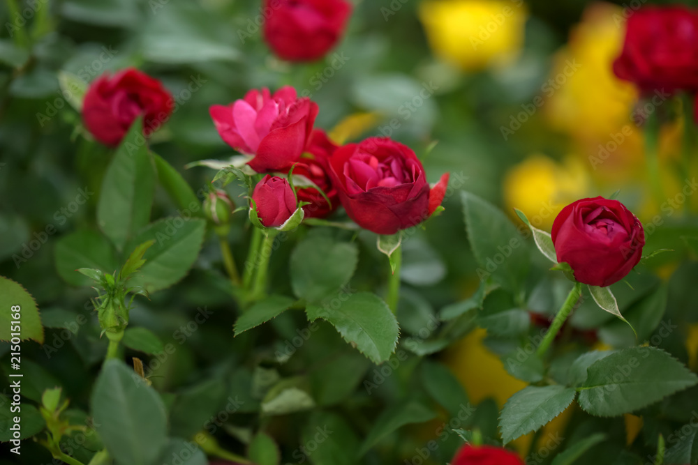
[[[258,173],[288,170],[301,157],[318,116],[318,105],[297,98],[285,86],[272,96],[269,89],[252,90],[227,107],[210,108],[218,134],[235,150],[255,155],[248,165]]]

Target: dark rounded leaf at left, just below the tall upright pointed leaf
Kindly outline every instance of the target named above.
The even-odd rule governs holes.
[[[59,238],[54,247],[56,270],[68,284],[92,286],[91,277],[75,273],[78,268],[94,268],[105,273],[117,269],[117,254],[103,234],[97,231],[75,231]]]

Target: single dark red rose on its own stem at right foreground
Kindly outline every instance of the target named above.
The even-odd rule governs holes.
[[[606,287],[623,279],[640,261],[642,224],[617,200],[596,197],[567,205],[555,218],[558,261],[572,267],[579,282]]]

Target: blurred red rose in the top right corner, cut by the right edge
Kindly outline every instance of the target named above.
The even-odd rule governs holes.
[[[614,72],[643,91],[698,89],[698,13],[685,7],[632,13]]]

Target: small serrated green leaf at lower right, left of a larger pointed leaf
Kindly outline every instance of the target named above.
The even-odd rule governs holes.
[[[577,392],[565,386],[528,386],[507,400],[499,419],[505,444],[537,431],[572,404]]]

